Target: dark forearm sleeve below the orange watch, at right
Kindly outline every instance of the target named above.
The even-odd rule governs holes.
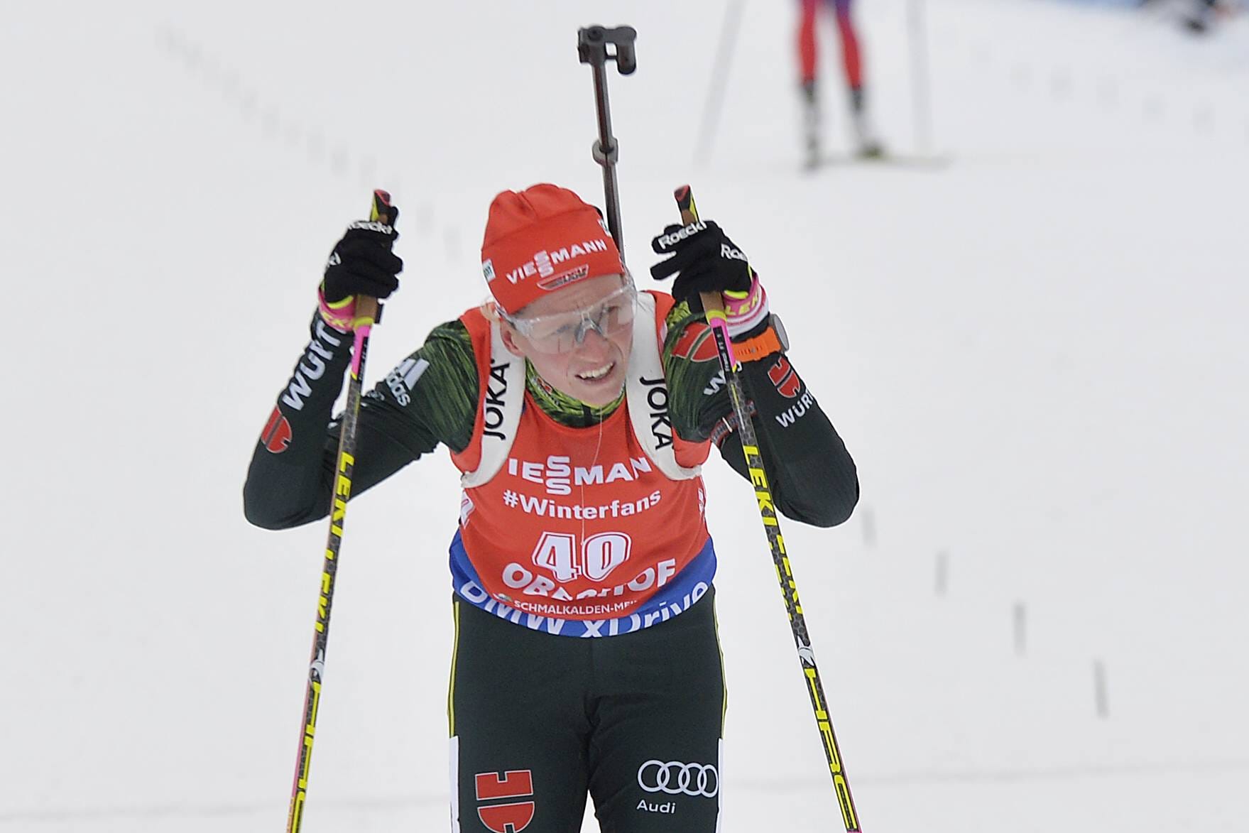
[[[777,508],[818,527],[846,522],[859,495],[854,460],[788,357],[743,362],[741,377]],[[727,415],[722,426],[736,428],[736,417]],[[724,461],[749,480],[738,432],[712,436]]]

